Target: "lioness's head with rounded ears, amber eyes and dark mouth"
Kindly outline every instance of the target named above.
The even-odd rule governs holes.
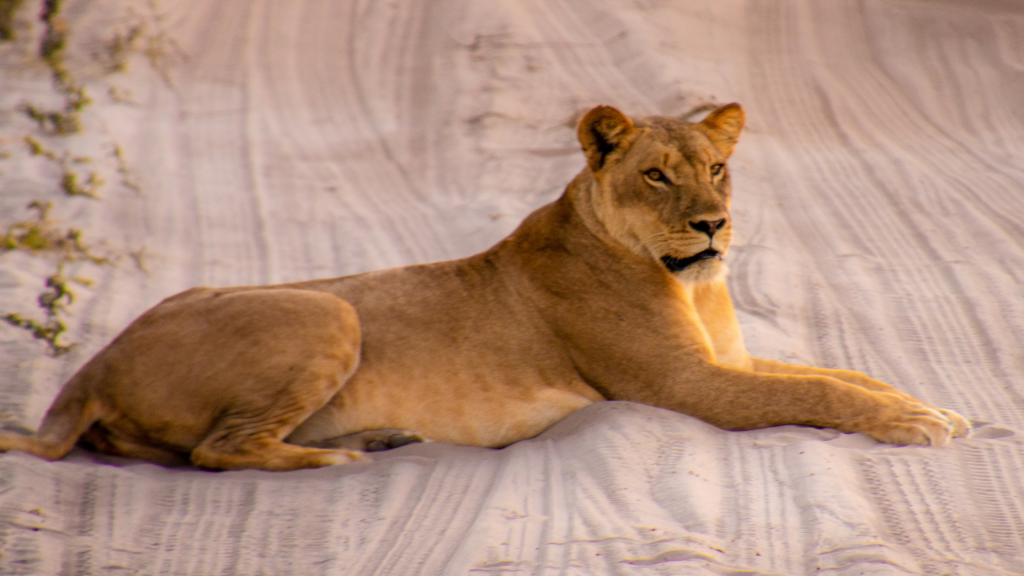
[[[697,123],[660,116],[634,122],[611,107],[591,110],[578,134],[594,177],[597,218],[612,238],[679,280],[717,278],[732,238],[726,160],[744,120],[736,104]]]

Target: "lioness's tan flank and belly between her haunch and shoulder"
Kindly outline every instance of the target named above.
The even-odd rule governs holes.
[[[289,442],[406,428],[436,442],[506,446],[603,400],[531,301],[497,271],[477,258],[316,286],[355,307],[361,360]]]

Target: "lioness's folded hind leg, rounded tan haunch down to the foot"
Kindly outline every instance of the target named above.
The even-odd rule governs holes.
[[[106,392],[116,411],[102,423],[124,441],[115,446],[121,453],[172,449],[210,469],[358,460],[354,451],[284,439],[344,386],[359,346],[355,310],[331,294],[196,293],[158,305],[111,345],[102,362],[118,376]]]

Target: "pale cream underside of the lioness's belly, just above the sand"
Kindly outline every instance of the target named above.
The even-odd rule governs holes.
[[[532,438],[580,408],[603,400],[583,382],[563,387],[359,376],[357,372],[289,441],[306,444],[368,429],[404,428],[435,442],[501,447]]]

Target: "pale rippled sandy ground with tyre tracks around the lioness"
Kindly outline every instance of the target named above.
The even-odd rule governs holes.
[[[0,223],[50,201],[53,238],[112,263],[60,269],[92,281],[68,354],[0,325],[8,427],[162,297],[477,252],[582,168],[581,111],[735,100],[748,346],[979,428],[897,448],[602,403],[505,450],[288,474],[11,453],[0,573],[1024,574],[1021,3],[67,0],[92,102],[65,136],[25,114],[66,99],[40,7],[0,44]],[[0,255],[0,312],[45,321],[58,252]]]

